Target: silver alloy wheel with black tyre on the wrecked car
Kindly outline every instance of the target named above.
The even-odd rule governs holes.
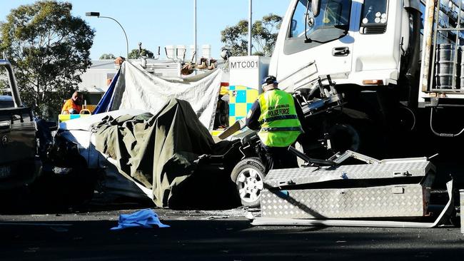
[[[231,173],[231,179],[236,183],[242,205],[258,207],[266,170],[259,158],[246,158],[237,163]]]

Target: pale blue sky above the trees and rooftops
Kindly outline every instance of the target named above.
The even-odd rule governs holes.
[[[31,0],[0,0],[0,21],[6,21],[11,9]],[[95,29],[91,58],[98,59],[102,53],[126,56],[126,39],[123,31],[110,19],[87,17],[87,11],[99,11],[101,16],[111,16],[119,21],[128,36],[129,51],[143,48],[153,51],[166,45],[193,45],[193,0],[69,0],[72,14],[81,16]],[[241,19],[248,19],[248,0],[197,0],[197,45],[211,44],[211,56],[219,57],[223,44],[221,30],[233,26]],[[266,14],[286,13],[290,0],[254,0],[253,21]],[[201,55],[201,51],[198,52]]]

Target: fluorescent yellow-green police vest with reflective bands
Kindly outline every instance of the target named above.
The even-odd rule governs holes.
[[[269,147],[288,147],[300,133],[301,123],[296,115],[295,102],[290,93],[274,89],[258,96],[261,107],[261,130],[258,136]]]

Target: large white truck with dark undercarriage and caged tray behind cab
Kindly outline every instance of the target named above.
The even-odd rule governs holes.
[[[388,155],[463,133],[462,25],[462,1],[293,0],[268,74],[304,96],[311,81],[295,74],[315,63],[344,94],[342,115],[316,126],[328,144]]]

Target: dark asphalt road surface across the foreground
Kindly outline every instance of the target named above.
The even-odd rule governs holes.
[[[459,227],[251,225],[258,210],[154,209],[166,228],[110,230],[149,203],[0,215],[0,260],[463,260]],[[248,218],[246,218],[246,216]]]

